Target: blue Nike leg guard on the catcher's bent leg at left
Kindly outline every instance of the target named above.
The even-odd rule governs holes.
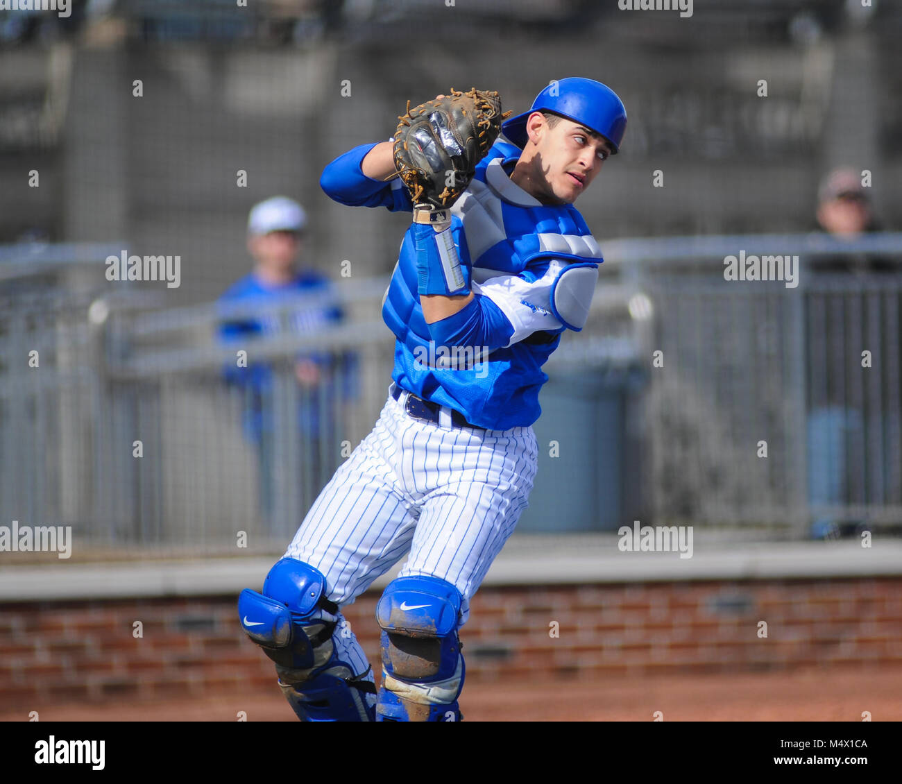
[[[275,662],[279,686],[301,721],[373,721],[375,687],[337,658],[338,605],[325,589],[317,569],[282,558],[262,594],[245,588],[238,597],[241,627]]]

